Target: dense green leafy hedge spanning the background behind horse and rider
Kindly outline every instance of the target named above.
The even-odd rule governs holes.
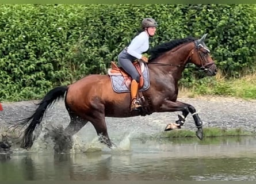
[[[41,98],[57,85],[104,74],[144,17],[160,25],[151,47],[208,33],[219,69],[255,67],[256,5],[0,5],[0,101]],[[191,83],[185,70],[182,82]]]

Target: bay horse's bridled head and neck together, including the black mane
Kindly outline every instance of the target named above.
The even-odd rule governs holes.
[[[148,64],[186,68],[186,63],[193,63],[207,75],[214,76],[217,67],[209,54],[209,48],[204,43],[206,36],[207,34],[204,34],[201,39],[193,37],[175,39],[158,45],[150,50],[151,57]]]

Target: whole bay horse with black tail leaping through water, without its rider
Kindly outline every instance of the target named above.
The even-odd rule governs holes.
[[[90,121],[99,140],[109,148],[113,148],[114,144],[108,136],[105,117],[124,118],[160,112],[182,112],[174,124],[178,128],[184,125],[186,117],[191,113],[197,127],[196,135],[201,140],[202,121],[196,109],[190,104],[177,101],[177,96],[178,81],[187,63],[193,63],[208,76],[216,75],[216,64],[204,43],[206,36],[207,34],[204,34],[200,39],[193,37],[175,39],[151,49],[151,57],[147,63],[150,87],[142,92],[145,102],[143,111],[130,112],[130,94],[116,93],[112,89],[109,75],[87,75],[71,85],[55,87],[48,91],[37,104],[38,107],[32,116],[16,124],[26,127],[22,132],[21,148],[32,147],[35,140],[33,131],[42,121],[48,107],[60,98],[64,98],[70,116],[70,123],[64,132],[70,136],[75,135]],[[172,129],[169,125],[165,131]]]

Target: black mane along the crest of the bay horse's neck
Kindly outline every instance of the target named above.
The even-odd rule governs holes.
[[[148,51],[148,53],[150,54],[150,59],[148,62],[151,62],[152,60],[156,59],[156,57],[163,55],[163,53],[165,53],[166,51],[170,51],[171,49],[177,47],[178,45],[181,45],[184,43],[190,43],[195,40],[197,40],[197,39],[189,36],[184,39],[175,39],[175,40],[171,40],[167,43],[156,45],[156,47],[154,47],[154,48],[150,49],[150,51]]]

